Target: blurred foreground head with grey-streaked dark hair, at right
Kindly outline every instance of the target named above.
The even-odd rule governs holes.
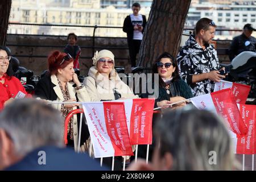
[[[171,110],[156,124],[152,163],[143,160],[129,170],[231,170],[236,162],[223,119],[206,110]]]

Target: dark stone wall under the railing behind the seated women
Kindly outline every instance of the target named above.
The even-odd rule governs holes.
[[[38,36],[38,35],[14,35],[7,36],[6,46],[11,49],[20,65],[34,71],[34,75],[40,75],[47,68],[47,56],[51,51],[63,51],[67,44],[66,36]],[[87,75],[92,66],[93,38],[80,36],[78,41],[82,49],[80,70],[82,75]],[[230,41],[217,41],[217,48],[229,47]],[[115,55],[115,65],[124,66],[126,72],[130,72],[129,51],[126,38],[96,38],[96,50],[109,49]],[[228,63],[228,55],[219,55],[222,63]]]

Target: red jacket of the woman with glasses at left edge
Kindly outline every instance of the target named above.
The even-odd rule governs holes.
[[[19,91],[26,94],[26,97],[31,97],[30,94],[27,94],[18,78],[14,76],[11,76],[10,80],[9,78],[5,78],[4,84],[0,83],[0,110],[3,109],[5,101],[9,100],[10,98],[15,98]]]

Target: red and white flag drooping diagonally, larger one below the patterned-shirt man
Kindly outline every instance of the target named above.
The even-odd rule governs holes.
[[[247,133],[247,127],[241,118],[230,88],[193,97],[191,101],[198,109],[207,109],[222,115],[230,129],[237,135]]]

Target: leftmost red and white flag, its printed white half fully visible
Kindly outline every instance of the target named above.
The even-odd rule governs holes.
[[[82,107],[95,158],[133,155],[123,102],[86,102]]]

